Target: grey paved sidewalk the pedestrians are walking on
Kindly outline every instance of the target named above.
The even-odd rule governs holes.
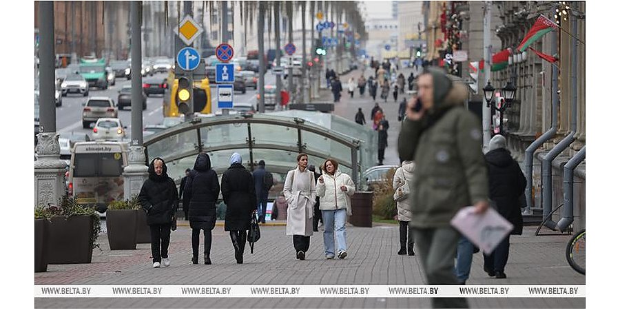
[[[468,285],[585,285],[564,258],[569,236],[513,236],[506,279],[486,276],[482,254],[475,254]],[[263,226],[254,254],[246,247],[244,264],[223,227],[213,231],[214,265],[192,265],[189,227],[172,232],[171,267],[154,269],[150,245],[110,251],[105,234],[102,251],[95,249],[91,264],[49,265],[35,273],[35,285],[424,285],[417,256],[397,256],[398,227],[347,227],[349,256],[325,260],[322,232],[311,237],[307,260],[296,260],[291,236],[283,226]],[[202,252],[202,250],[201,250]],[[479,308],[583,308],[585,298],[470,298]],[[424,308],[428,298],[35,298],[39,308]]]

